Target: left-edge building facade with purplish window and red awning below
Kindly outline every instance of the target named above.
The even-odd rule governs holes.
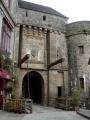
[[[7,84],[11,79],[10,73],[4,68],[4,54],[14,54],[14,0],[0,0],[0,109],[3,107],[3,98],[7,96]],[[12,13],[11,13],[12,11]]]

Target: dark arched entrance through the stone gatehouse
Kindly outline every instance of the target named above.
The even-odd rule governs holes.
[[[44,81],[42,76],[35,71],[31,71],[24,76],[22,83],[22,95],[31,98],[34,103],[43,102]]]

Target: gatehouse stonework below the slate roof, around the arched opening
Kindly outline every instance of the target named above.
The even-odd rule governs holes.
[[[66,85],[68,84],[68,56],[65,37],[67,18],[23,9],[18,6],[16,12],[15,59],[18,61],[21,25],[23,27],[20,59],[27,53],[30,54],[30,58],[21,65],[21,69],[18,68],[19,96],[22,96],[22,83],[25,75],[27,75],[28,72],[34,71],[43,78],[44,88],[42,90],[42,103],[46,105],[49,102],[49,105],[54,106],[55,98],[58,97],[59,86],[62,87],[62,89],[65,87],[65,91],[62,90],[62,95],[68,94]],[[43,20],[43,16],[46,16],[45,21]],[[47,58],[48,52],[50,54],[49,63],[59,58],[65,59],[62,64],[59,63],[59,65],[50,68],[49,75],[47,69],[47,64],[49,64]],[[58,72],[59,69],[63,72]],[[64,82],[65,85],[63,84]]]

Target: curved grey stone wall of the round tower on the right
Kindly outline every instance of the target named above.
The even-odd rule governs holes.
[[[84,95],[88,95],[90,66],[88,60],[90,57],[90,22],[82,21],[67,25],[67,43],[69,57],[69,73],[70,80],[74,83],[80,82],[80,78],[84,78]],[[84,47],[84,53],[80,54],[79,46]],[[84,97],[84,96],[83,96]]]

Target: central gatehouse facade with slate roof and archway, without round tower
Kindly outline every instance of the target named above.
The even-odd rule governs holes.
[[[68,95],[68,18],[52,8],[25,1],[18,2],[16,14],[15,59],[20,62],[30,55],[18,68],[19,96],[54,105],[55,98]],[[60,58],[64,58],[62,63],[47,68]]]

